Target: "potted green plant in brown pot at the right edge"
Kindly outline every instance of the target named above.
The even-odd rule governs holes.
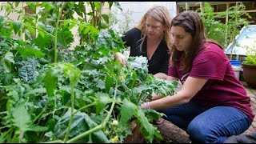
[[[248,86],[256,88],[256,47],[249,49],[247,46],[246,50],[247,56],[242,62],[243,77]]]

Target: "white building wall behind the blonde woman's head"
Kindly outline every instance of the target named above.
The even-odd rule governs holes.
[[[176,2],[119,2],[122,11],[118,10],[115,6],[112,7],[112,13],[116,15],[118,23],[114,26],[114,29],[121,31],[121,28],[124,28],[123,25],[126,25],[125,14],[130,16],[129,27],[126,27],[126,30],[134,27],[139,20],[142,18],[142,15],[146,13],[146,10],[150,9],[151,6],[166,6],[169,10],[171,18],[176,16]],[[125,31],[126,31],[125,30]]]

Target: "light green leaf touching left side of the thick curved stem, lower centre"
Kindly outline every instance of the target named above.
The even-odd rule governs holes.
[[[108,94],[104,93],[96,93],[95,96],[98,98],[98,102],[96,104],[96,114],[99,114],[106,104],[110,102],[110,97]]]

